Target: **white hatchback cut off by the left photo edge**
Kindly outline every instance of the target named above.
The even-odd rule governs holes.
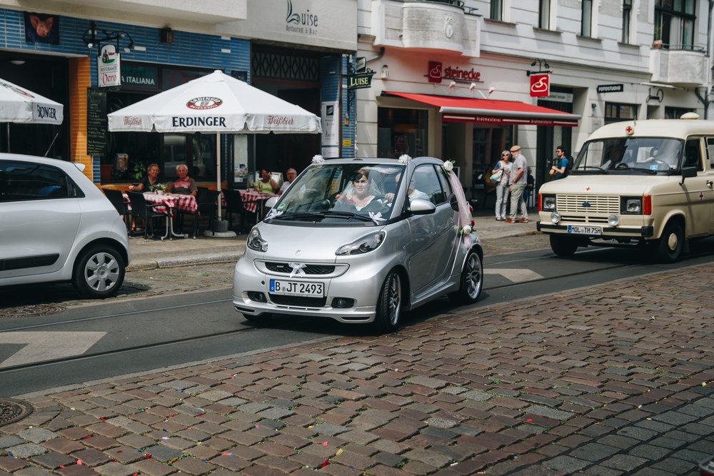
[[[119,291],[126,225],[81,168],[0,153],[0,286],[70,281],[86,298]]]

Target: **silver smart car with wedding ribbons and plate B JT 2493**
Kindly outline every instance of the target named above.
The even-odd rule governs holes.
[[[233,306],[372,323],[442,295],[475,303],[483,250],[451,163],[436,158],[313,158],[273,198],[236,263]]]

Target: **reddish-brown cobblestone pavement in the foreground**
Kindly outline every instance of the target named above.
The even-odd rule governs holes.
[[[695,475],[708,266],[22,398],[0,475]]]

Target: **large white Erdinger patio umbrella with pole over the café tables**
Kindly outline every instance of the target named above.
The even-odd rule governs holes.
[[[321,133],[320,118],[222,71],[107,115],[109,131],[207,132],[216,136],[216,185],[221,190],[220,133]],[[221,203],[218,203],[221,220]]]

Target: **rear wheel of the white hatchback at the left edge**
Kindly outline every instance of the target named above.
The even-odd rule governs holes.
[[[111,298],[119,292],[125,273],[124,258],[116,248],[94,245],[79,255],[72,285],[84,298]]]

